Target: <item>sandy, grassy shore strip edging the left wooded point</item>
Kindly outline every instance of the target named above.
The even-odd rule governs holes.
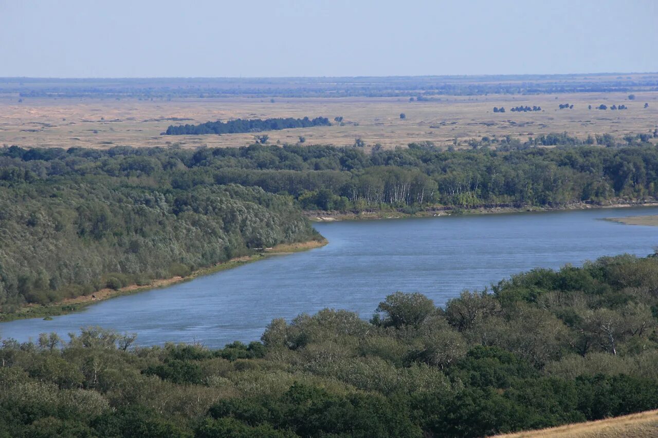
[[[181,283],[182,281],[190,281],[200,276],[207,276],[209,274],[215,274],[216,272],[237,268],[243,264],[255,262],[257,260],[262,260],[268,256],[274,255],[286,255],[291,253],[297,253],[299,251],[307,251],[313,248],[319,248],[326,245],[328,241],[326,239],[321,240],[311,240],[306,242],[297,242],[297,243],[282,243],[276,245],[272,248],[265,248],[259,253],[253,255],[241,256],[232,258],[226,262],[218,263],[213,266],[207,266],[206,268],[201,268],[195,270],[189,276],[185,277],[172,277],[172,278],[163,278],[159,280],[154,280],[149,285],[128,285],[126,287],[121,287],[120,289],[110,289],[108,287],[95,291],[91,295],[81,295],[76,298],[67,298],[63,301],[58,301],[56,303],[50,304],[28,304],[16,312],[0,314],[0,322],[8,322],[13,320],[20,320],[26,318],[50,318],[52,316],[59,316],[68,314],[71,312],[79,312],[84,309],[86,306],[91,304],[100,303],[107,299],[114,297],[120,297],[122,295],[130,295],[132,293],[138,293],[143,291],[149,291],[151,289],[159,289],[161,287],[167,287],[174,285],[176,283]]]

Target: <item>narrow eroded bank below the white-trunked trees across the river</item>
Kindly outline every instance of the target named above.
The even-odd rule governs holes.
[[[529,205],[482,205],[473,208],[453,206],[436,206],[425,208],[417,212],[404,212],[403,210],[367,210],[361,212],[339,211],[313,211],[307,210],[305,216],[313,222],[334,222],[339,220],[373,220],[373,219],[402,219],[426,218],[440,216],[457,216],[463,214],[502,214],[522,212],[549,212],[562,210],[590,210],[592,208],[624,208],[624,207],[658,207],[658,199],[648,201],[626,201],[623,199],[610,203],[569,203],[557,207],[534,207]]]

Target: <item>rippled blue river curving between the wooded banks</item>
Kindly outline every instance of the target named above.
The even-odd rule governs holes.
[[[658,227],[606,217],[658,214],[658,208],[455,216],[316,224],[326,247],[272,256],[164,289],[118,297],[52,321],[0,324],[19,341],[97,325],[138,333],[141,345],[199,341],[222,347],[259,339],[272,318],[324,307],[369,318],[394,291],[421,292],[443,304],[537,266],[559,268],[601,255],[647,255]]]

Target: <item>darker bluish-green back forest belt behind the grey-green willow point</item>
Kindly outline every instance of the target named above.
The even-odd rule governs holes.
[[[604,134],[584,141],[567,134],[526,141],[483,137],[468,141],[468,150],[411,143],[393,150],[375,147],[372,153],[364,147],[319,145],[196,151],[11,147],[0,149],[0,182],[100,175],[155,180],[158,187],[180,190],[239,184],[290,195],[307,210],[555,207],[658,196],[658,148],[651,139],[651,134],[624,139]]]

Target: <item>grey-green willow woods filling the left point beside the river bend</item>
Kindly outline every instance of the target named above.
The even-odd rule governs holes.
[[[0,158],[0,316],[318,238],[289,197],[234,184],[180,189],[148,172],[94,171],[116,158],[63,154],[26,166]]]

